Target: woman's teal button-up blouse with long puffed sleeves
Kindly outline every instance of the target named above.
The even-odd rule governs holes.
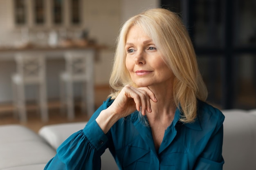
[[[95,119],[112,102],[107,99],[83,130],[58,147],[45,170],[100,170],[100,157],[106,148],[120,170],[222,170],[225,117],[220,110],[198,101],[198,117],[185,124],[179,121],[182,113],[177,109],[156,151],[150,126],[139,120],[137,111],[103,133]]]

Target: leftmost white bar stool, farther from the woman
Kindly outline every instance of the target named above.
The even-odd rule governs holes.
[[[27,121],[25,86],[37,85],[40,116],[42,121],[48,121],[45,56],[40,53],[18,53],[15,61],[17,73],[11,77],[15,113],[18,114],[20,121]]]

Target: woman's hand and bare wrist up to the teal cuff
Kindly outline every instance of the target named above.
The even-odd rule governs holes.
[[[155,94],[148,87],[125,86],[114,102],[107,109],[102,110],[95,120],[106,134],[119,119],[135,110],[141,111],[142,115],[146,115],[146,111],[151,112],[150,99],[157,102]]]

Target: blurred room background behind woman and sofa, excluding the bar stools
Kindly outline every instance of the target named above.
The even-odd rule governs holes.
[[[85,121],[81,87],[74,86],[75,118],[60,113],[63,56],[56,51],[94,51],[94,106],[110,92],[108,79],[121,24],[148,8],[180,13],[195,46],[208,102],[220,109],[256,108],[256,0],[0,0],[0,124],[22,123],[34,130],[44,124]],[[27,121],[13,116],[11,76],[20,51],[47,53],[49,120],[37,113],[36,88],[26,88]],[[58,53],[62,54],[62,53]]]

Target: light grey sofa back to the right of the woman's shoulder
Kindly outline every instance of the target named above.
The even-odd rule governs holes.
[[[222,110],[225,115],[223,170],[256,169],[256,115],[250,111]]]

